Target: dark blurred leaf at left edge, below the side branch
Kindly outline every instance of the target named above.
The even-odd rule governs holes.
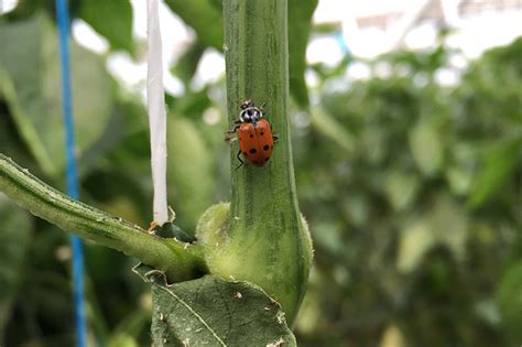
[[[25,256],[32,234],[32,218],[0,193],[0,345],[3,346],[6,324],[11,305],[20,290]]]

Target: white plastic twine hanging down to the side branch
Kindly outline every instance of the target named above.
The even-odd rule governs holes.
[[[157,0],[148,0],[148,76],[146,98],[151,128],[152,183],[154,185],[153,221],[168,220],[166,205],[166,113],[163,89],[163,62]]]

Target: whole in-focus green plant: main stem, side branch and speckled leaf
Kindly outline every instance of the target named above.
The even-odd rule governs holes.
[[[295,344],[285,322],[295,319],[312,261],[293,178],[286,2],[224,4],[229,118],[236,118],[242,98],[267,100],[281,140],[263,169],[235,170],[231,154],[230,208],[220,204],[204,214],[196,243],[148,234],[75,202],[0,154],[0,191],[20,206],[143,263],[137,272],[152,285],[157,346]]]

